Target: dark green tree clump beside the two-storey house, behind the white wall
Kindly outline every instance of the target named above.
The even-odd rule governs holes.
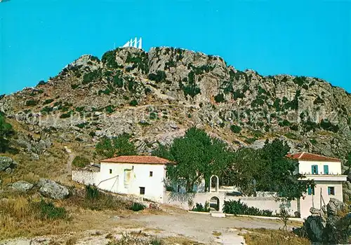
[[[266,141],[262,149],[241,148],[234,153],[231,164],[223,170],[222,181],[241,188],[245,195],[256,190],[279,193],[287,200],[302,197],[313,181],[296,172],[298,161],[288,158],[290,147],[275,139]]]

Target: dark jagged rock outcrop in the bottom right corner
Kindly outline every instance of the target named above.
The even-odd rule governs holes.
[[[326,210],[326,212],[324,212]],[[311,208],[311,216],[298,229],[298,235],[305,235],[312,242],[324,244],[350,244],[351,214],[343,202],[331,198],[324,210]]]

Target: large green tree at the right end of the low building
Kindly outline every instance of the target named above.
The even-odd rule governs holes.
[[[220,174],[228,161],[227,145],[195,127],[175,139],[169,148],[161,146],[153,155],[177,162],[167,167],[167,178],[171,182],[184,181],[187,192],[192,192],[201,178],[208,187],[211,175]]]

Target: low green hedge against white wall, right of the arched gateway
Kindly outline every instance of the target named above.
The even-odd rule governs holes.
[[[272,216],[270,210],[260,210],[255,207],[248,207],[246,204],[234,200],[224,201],[223,212],[225,214],[244,214],[252,216]]]

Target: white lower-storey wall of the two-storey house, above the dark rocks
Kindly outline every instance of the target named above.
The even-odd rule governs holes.
[[[343,181],[314,181],[316,186],[314,187],[314,195],[308,195],[305,193],[305,198],[300,200],[300,213],[301,218],[307,218],[310,216],[310,208],[314,207],[316,209],[321,208],[324,204],[328,204],[331,198],[336,198],[343,202]],[[328,187],[333,186],[335,188],[335,195],[328,194]],[[321,199],[321,188],[322,197]]]

